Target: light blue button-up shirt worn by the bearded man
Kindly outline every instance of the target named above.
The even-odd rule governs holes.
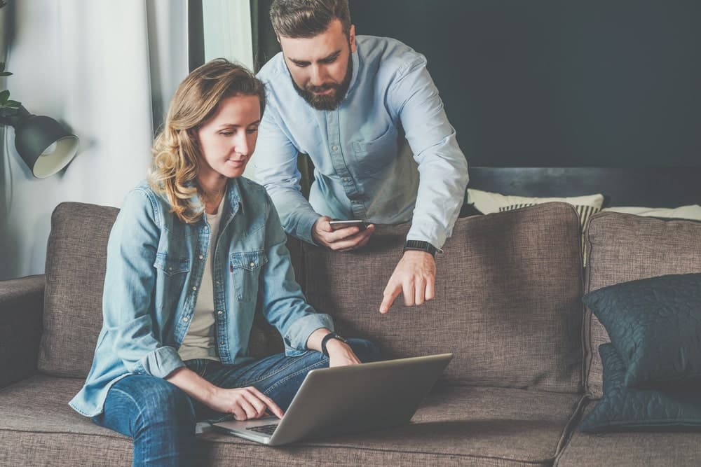
[[[348,94],[334,111],[313,109],[297,94],[282,53],[261,69],[268,97],[253,157],[257,178],[285,230],[306,242],[326,215],[411,221],[407,239],[440,248],[458,218],[468,165],[426,57],[394,39],[357,36],[357,44]],[[315,166],[308,201],[298,152]]]

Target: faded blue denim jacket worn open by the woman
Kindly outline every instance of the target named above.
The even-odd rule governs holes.
[[[306,303],[294,281],[287,237],[265,189],[231,179],[226,197],[212,258],[219,359],[229,365],[253,360],[248,340],[257,301],[283,336],[285,353],[302,354],[314,330],[333,330],[332,320]],[[71,407],[93,417],[119,379],[163,378],[184,366],[177,349],[193,316],[209,240],[205,216],[179,221],[147,183],[127,195],[107,244],[93,365]]]

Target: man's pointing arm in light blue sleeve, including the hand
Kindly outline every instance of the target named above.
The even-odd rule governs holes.
[[[440,249],[463,204],[468,164],[423,56],[397,71],[388,90],[388,104],[397,109],[418,164],[416,207],[407,240],[428,242]],[[435,270],[430,253],[405,251],[385,288],[380,312],[388,312],[399,293],[407,306],[433,299]]]

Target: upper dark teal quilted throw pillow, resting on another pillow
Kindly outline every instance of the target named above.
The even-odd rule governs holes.
[[[626,386],[701,386],[701,274],[624,282],[583,301],[623,359]]]

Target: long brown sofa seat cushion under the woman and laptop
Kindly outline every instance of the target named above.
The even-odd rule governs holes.
[[[0,391],[0,465],[130,465],[130,438],[67,405],[81,384],[38,375]],[[198,438],[200,459],[212,466],[550,465],[579,400],[576,394],[443,386],[406,426],[275,449],[210,432]]]

